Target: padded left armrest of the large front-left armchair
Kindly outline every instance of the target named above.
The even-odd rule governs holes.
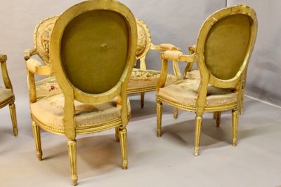
[[[35,60],[33,58],[27,60],[26,66],[28,71],[32,72],[33,74],[48,76],[52,73],[51,67],[49,65],[41,65],[38,60]]]

